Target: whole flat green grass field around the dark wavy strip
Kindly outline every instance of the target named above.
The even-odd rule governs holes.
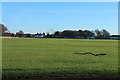
[[[4,38],[3,78],[117,77],[118,41]],[[107,53],[93,56],[75,52]]]

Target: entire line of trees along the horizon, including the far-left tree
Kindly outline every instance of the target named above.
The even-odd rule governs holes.
[[[4,35],[4,33],[6,33],[6,31],[8,31],[8,28],[5,27],[3,24],[0,24],[0,33],[2,35]],[[22,30],[20,30],[19,32],[16,32],[16,34],[11,33],[11,37],[25,37],[24,35],[27,35],[29,37],[31,37],[30,33],[28,34],[24,34],[24,32]],[[45,33],[37,33],[34,35],[43,35],[44,38],[96,38],[96,39],[109,39],[110,37],[110,33],[105,30],[99,30],[99,29],[95,29],[95,30],[64,30],[64,31],[55,31],[53,34],[45,34]]]

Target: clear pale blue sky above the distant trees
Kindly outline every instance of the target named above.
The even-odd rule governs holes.
[[[2,2],[2,23],[13,33],[106,29],[118,34],[118,3]]]

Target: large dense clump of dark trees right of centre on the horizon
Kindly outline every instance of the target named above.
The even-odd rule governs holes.
[[[62,32],[56,31],[54,34],[47,34],[47,37],[53,38],[96,38],[96,39],[108,39],[110,37],[110,33],[105,30],[64,30]]]

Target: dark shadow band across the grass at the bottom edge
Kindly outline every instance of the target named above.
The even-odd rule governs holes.
[[[72,70],[72,69],[71,69]],[[3,69],[2,79],[38,79],[38,80],[118,80],[117,71],[49,71],[43,69]]]

